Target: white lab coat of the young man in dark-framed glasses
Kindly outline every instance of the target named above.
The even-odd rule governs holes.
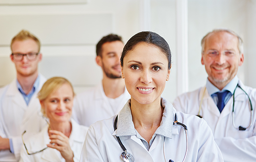
[[[0,162],[17,162],[20,158],[23,131],[39,132],[46,125],[40,116],[40,102],[36,97],[46,81],[45,77],[40,75],[40,86],[34,92],[28,106],[18,90],[16,80],[0,88],[0,136],[12,138],[14,150],[14,154],[9,150],[1,150]]]

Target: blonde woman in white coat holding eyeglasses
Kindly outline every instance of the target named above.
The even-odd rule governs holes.
[[[38,98],[49,124],[24,142],[20,162],[78,162],[88,127],[70,120],[74,99],[71,83],[65,78],[51,78]]]

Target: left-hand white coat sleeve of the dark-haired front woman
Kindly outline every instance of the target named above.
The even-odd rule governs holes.
[[[80,162],[104,162],[95,137],[95,130],[90,126],[82,148]]]

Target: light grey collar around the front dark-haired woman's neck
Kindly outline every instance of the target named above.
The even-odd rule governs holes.
[[[135,127],[132,121],[132,114],[130,109],[130,102],[128,100],[125,106],[118,114],[118,127],[112,135],[116,136],[133,136],[136,135]],[[173,117],[175,109],[167,100],[161,98],[161,105],[164,108],[162,121],[160,126],[156,129],[155,134],[172,138],[173,134]],[[175,134],[177,132],[175,131]]]

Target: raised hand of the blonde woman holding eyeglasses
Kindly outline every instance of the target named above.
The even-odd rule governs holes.
[[[50,144],[47,144],[47,146],[60,151],[61,156],[66,160],[66,162],[74,162],[74,154],[69,146],[68,137],[62,132],[55,130],[49,130],[49,137],[51,142]]]

